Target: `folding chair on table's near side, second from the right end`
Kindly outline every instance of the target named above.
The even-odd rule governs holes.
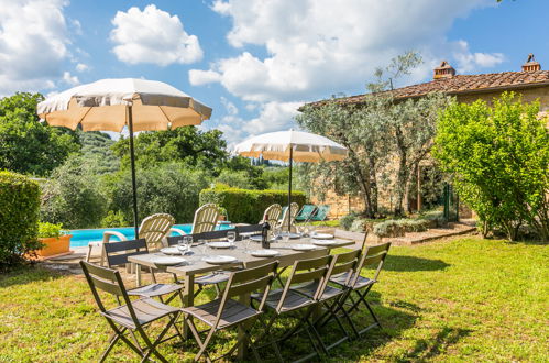
[[[328,285],[328,282],[333,276],[348,276],[347,279],[350,279],[352,273],[356,270],[360,253],[361,253],[361,250],[353,250],[350,252],[344,252],[344,253],[333,255],[330,267],[328,268],[328,273],[326,274],[323,287],[319,286],[319,284],[320,284],[319,280],[315,280],[315,282],[310,282],[306,285],[301,285],[297,288],[294,288],[294,290],[296,290],[296,292],[298,292],[298,293],[300,293],[309,298],[315,298],[316,292],[318,292],[318,289],[321,288],[321,294],[318,295],[315,298],[315,300],[317,302],[321,304],[326,308],[326,311],[320,318],[318,318],[315,321],[314,324],[318,326],[318,324],[320,324],[320,322],[323,319],[330,317],[331,319],[336,320],[339,329],[344,334],[343,338],[338,339],[338,340],[329,343],[328,345],[326,345],[326,343],[322,340],[320,340],[322,351],[325,351],[326,353],[330,349],[338,346],[342,342],[351,339],[351,337],[347,332],[345,328],[343,327],[343,323],[341,322],[340,318],[334,314],[334,311],[339,307],[339,302],[340,302],[341,298],[344,296],[344,294],[347,293],[349,287],[347,285],[342,285],[339,287],[330,286],[330,285]],[[343,312],[345,315],[345,318],[349,319],[347,311],[343,310]]]

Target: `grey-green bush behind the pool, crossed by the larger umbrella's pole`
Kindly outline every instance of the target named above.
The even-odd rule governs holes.
[[[209,185],[208,174],[188,170],[182,164],[167,163],[138,170],[138,207],[140,220],[154,213],[169,213],[179,223],[191,222],[198,208],[198,194]],[[119,172],[106,178],[105,193],[109,210],[133,223],[133,194],[130,173]],[[122,219],[119,217],[120,221]]]

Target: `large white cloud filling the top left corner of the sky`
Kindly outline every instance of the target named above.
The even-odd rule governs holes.
[[[64,0],[0,1],[0,95],[55,87],[70,41]]]

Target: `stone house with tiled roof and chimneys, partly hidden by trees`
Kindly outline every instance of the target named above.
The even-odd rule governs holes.
[[[458,75],[455,69],[443,61],[433,69],[432,80],[394,89],[393,95],[398,101],[420,98],[433,91],[444,92],[455,97],[458,102],[468,103],[477,99],[490,103],[502,92],[514,91],[520,94],[524,101],[539,100],[542,113],[549,114],[549,70],[541,70],[541,65],[536,62],[532,54],[528,56],[520,70],[477,75]],[[340,105],[360,105],[365,97],[372,97],[372,94],[338,98],[334,101]],[[322,105],[327,101],[321,100],[310,105]],[[420,207],[421,196],[410,200],[416,207]],[[312,202],[330,205],[330,218],[339,218],[350,211],[360,211],[364,208],[361,198],[338,196],[334,191],[327,193],[323,201],[314,198]]]

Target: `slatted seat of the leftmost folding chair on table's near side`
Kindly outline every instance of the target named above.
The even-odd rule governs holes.
[[[221,299],[215,299],[210,302],[199,306],[183,308],[182,311],[201,320],[210,327],[213,327],[213,324],[216,323],[217,315],[219,312],[220,304]],[[251,307],[240,304],[235,300],[228,299],[217,328],[227,328],[250,319],[256,315],[259,315],[259,312]]]

